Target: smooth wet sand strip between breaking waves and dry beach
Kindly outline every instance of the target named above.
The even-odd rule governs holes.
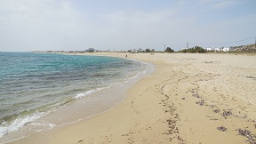
[[[126,74],[125,76],[122,76],[123,78],[119,78],[118,81],[112,81],[112,83],[109,83],[107,86],[93,89],[92,92],[91,90],[88,91],[88,94],[84,99],[80,99],[80,96],[77,97],[76,94],[74,99],[70,100],[60,108],[53,109],[52,112],[49,112],[47,115],[20,126],[22,128],[20,128],[18,131],[13,131],[6,134],[0,143],[14,142],[15,140],[20,141],[23,138],[29,139],[31,135],[34,135],[34,133],[43,133],[49,130],[51,131],[52,128],[55,129],[55,127],[76,124],[79,121],[83,121],[84,119],[88,119],[89,117],[95,115],[100,115],[101,113],[114,108],[116,104],[124,100],[124,93],[128,91],[132,84],[140,80],[141,76],[149,75],[149,73],[154,69],[146,62],[137,61],[137,64],[132,66],[130,63],[134,62],[129,62],[128,60],[124,61],[128,62],[127,65],[125,62],[125,66],[122,66],[124,70],[127,69],[127,66],[130,66],[134,67],[130,68],[134,69],[133,72],[125,72],[123,70]],[[119,73],[122,72],[121,69],[118,70]],[[119,75],[121,76],[121,74]]]

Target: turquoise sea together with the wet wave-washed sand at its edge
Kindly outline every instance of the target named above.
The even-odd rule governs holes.
[[[0,52],[0,143],[113,108],[148,68],[112,57]]]

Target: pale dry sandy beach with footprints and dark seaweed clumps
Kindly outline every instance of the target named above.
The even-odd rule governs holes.
[[[86,54],[127,54],[127,59],[154,64],[156,71],[108,112],[13,143],[256,142],[255,55]]]

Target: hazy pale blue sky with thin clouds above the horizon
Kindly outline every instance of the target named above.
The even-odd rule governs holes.
[[[0,52],[254,44],[255,0],[0,0]]]

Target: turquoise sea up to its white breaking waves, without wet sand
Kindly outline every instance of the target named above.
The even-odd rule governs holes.
[[[146,67],[111,57],[0,52],[0,139],[67,103],[124,84]]]

